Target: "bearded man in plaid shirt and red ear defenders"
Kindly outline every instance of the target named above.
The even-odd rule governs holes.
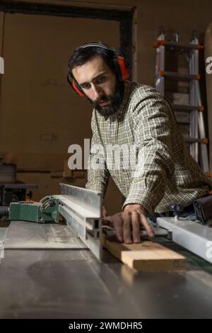
[[[102,210],[119,242],[141,242],[141,226],[154,237],[148,215],[169,213],[172,203],[190,213],[194,199],[208,194],[211,181],[187,152],[170,103],[151,86],[128,80],[122,52],[102,43],[78,47],[69,60],[69,82],[93,106],[90,160],[95,145],[136,152],[136,168],[125,167],[123,152],[118,168],[99,155],[104,167],[88,169],[87,188],[105,197],[112,176],[125,198],[122,212],[107,216]]]

